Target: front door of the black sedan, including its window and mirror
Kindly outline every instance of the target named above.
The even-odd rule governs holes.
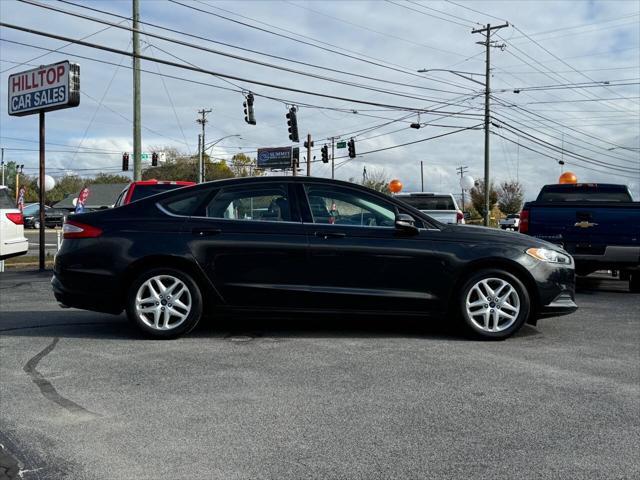
[[[397,207],[361,189],[313,182],[300,188],[307,200],[303,218],[315,307],[425,313],[439,308],[434,279],[443,269],[442,252],[432,233],[399,232]]]

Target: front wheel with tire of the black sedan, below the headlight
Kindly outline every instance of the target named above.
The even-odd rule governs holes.
[[[527,288],[516,276],[500,269],[473,273],[456,303],[467,333],[487,340],[510,337],[531,315]]]

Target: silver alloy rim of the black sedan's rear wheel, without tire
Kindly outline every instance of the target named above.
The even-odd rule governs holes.
[[[156,275],[146,280],[136,293],[138,318],[154,330],[173,330],[191,313],[191,292],[172,275]]]

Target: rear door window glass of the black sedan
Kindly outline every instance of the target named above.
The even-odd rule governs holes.
[[[284,184],[222,189],[206,208],[210,218],[290,222],[291,205]]]

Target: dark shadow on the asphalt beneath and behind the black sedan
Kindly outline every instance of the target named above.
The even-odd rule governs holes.
[[[108,315],[81,310],[3,312],[0,336],[60,337],[97,340],[146,340],[124,314]],[[26,322],[25,319],[38,319]],[[516,337],[539,335],[525,325]],[[452,322],[423,318],[353,315],[290,315],[259,317],[225,315],[205,317],[186,338],[218,338],[242,341],[276,338],[416,338],[472,341]]]

